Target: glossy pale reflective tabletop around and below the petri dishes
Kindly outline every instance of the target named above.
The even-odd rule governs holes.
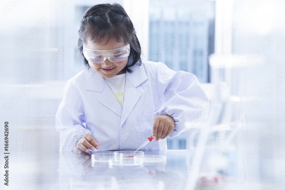
[[[147,150],[144,155],[166,156],[166,162],[139,166],[115,166],[99,163],[92,166],[91,154],[113,151],[62,152],[59,156],[59,184],[68,181],[68,189],[183,189],[186,175],[186,150]],[[182,161],[183,160],[183,161]],[[182,161],[182,162],[181,162]],[[105,184],[105,185],[104,185]],[[136,184],[134,187],[133,185]]]

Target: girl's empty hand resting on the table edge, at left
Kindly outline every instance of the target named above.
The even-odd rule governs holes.
[[[86,134],[81,139],[79,139],[73,151],[77,154],[81,154],[81,152],[88,153],[88,149],[95,150],[95,148],[98,149],[99,146],[99,142],[95,138],[93,138],[91,134]]]

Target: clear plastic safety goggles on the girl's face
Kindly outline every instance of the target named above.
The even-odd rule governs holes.
[[[126,60],[130,55],[130,44],[115,50],[90,50],[83,44],[83,54],[88,62],[103,63],[106,59],[110,62],[121,62]]]

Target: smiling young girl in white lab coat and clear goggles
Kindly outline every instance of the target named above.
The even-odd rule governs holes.
[[[56,113],[60,150],[167,149],[185,122],[203,122],[208,98],[195,75],[141,60],[135,28],[117,3],[90,7],[78,48],[86,69],[67,81]]]

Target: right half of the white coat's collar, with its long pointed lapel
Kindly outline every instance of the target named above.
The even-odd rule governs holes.
[[[131,69],[133,73],[126,73],[124,106],[120,126],[123,125],[141,97],[141,93],[136,87],[148,79],[143,66],[135,65]]]

